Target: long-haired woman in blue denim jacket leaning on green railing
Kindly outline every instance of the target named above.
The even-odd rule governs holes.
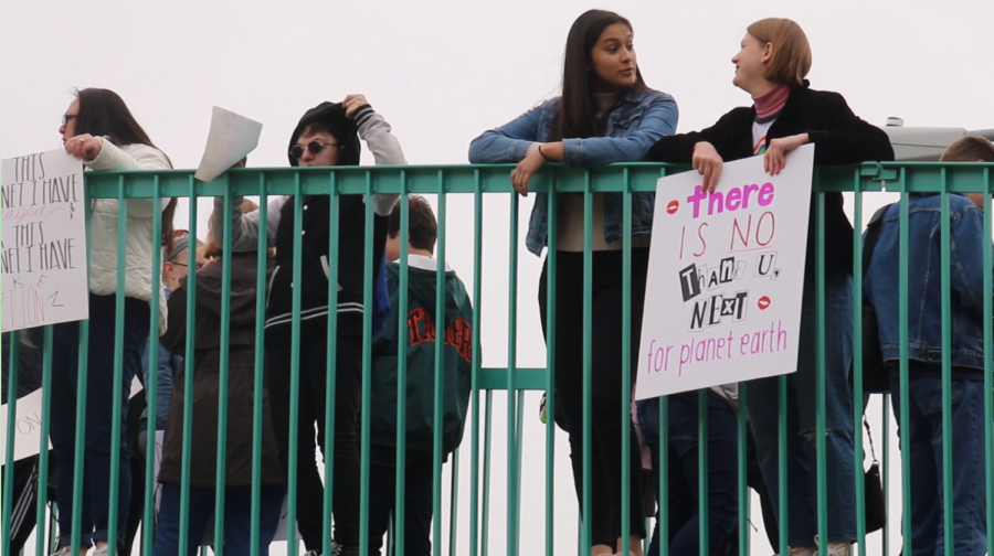
[[[548,100],[518,119],[486,131],[469,146],[473,163],[518,162],[511,174],[515,189],[528,193],[528,181],[546,162],[593,167],[636,162],[677,124],[676,103],[648,88],[636,65],[631,23],[612,12],[592,10],[570,30],[563,64],[562,96]],[[630,435],[628,505],[633,554],[641,556],[645,538],[642,510],[638,440],[634,425],[623,430],[621,415],[630,400],[622,395],[622,214],[621,193],[595,193],[593,222],[583,217],[583,195],[561,193],[554,234],[558,279],[554,285],[558,413],[570,431],[573,478],[583,489],[583,355],[572,349],[583,340],[583,306],[591,303],[596,334],[592,339],[591,411],[591,544],[593,556],[618,550],[622,515],[622,435]],[[653,225],[654,193],[632,194],[632,336],[638,338]],[[550,196],[539,193],[528,229],[528,249],[541,255],[547,245]],[[583,231],[593,226],[593,298],[583,296]],[[548,265],[548,263],[547,263]],[[548,331],[547,269],[539,282],[542,330]],[[565,346],[565,349],[557,349]],[[632,361],[637,342],[632,342]],[[635,370],[633,365],[632,381]]]

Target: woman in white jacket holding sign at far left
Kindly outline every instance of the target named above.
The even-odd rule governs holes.
[[[135,120],[124,100],[114,92],[88,88],[80,90],[62,117],[59,131],[70,154],[82,160],[89,170],[168,170],[169,158],[155,147]],[[116,199],[94,200],[89,207],[89,346],[86,388],[78,384],[80,323],[66,322],[54,328],[52,360],[51,439],[57,463],[56,503],[59,512],[59,555],[78,554],[96,544],[95,556],[107,553],[110,504],[117,504],[117,537],[125,538],[131,474],[128,464],[128,395],[135,373],[141,367],[141,352],[149,334],[149,303],[159,303],[159,330],[166,330],[166,296],[152,288],[152,249],[173,240],[172,214],[176,200],[150,199],[127,202],[127,235],[117,245],[119,205]],[[152,215],[162,211],[162,236],[152,237]],[[125,248],[124,344],[120,399],[113,399],[115,357],[115,293],[117,291],[117,249]],[[158,293],[156,293],[158,290]],[[86,397],[85,464],[81,523],[73,523],[73,472],[76,442],[76,400]],[[112,408],[120,404],[120,450],[112,453]],[[109,500],[110,461],[120,459],[118,499]],[[82,546],[72,550],[74,528],[82,528]]]

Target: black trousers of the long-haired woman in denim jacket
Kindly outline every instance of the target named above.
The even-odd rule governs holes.
[[[547,275],[539,284],[542,332],[549,344]],[[591,542],[614,546],[622,534],[622,435],[630,436],[628,534],[645,538],[642,453],[635,425],[622,427],[635,384],[648,248],[632,249],[631,383],[622,384],[622,252],[593,254],[593,299],[583,299],[583,254],[559,252],[556,280],[556,411],[565,420],[577,494],[583,500],[583,303],[591,304]],[[624,388],[623,388],[624,386]]]

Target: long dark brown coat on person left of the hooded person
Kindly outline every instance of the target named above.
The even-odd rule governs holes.
[[[255,388],[255,253],[231,256],[231,328],[228,374],[228,485],[252,484],[252,409]],[[214,488],[218,463],[218,394],[221,387],[222,264],[197,271],[197,320],[193,345],[193,426],[190,484]],[[172,353],[187,349],[187,281],[169,297],[169,325],[162,345]],[[169,405],[169,423],[162,447],[159,482],[180,483],[182,463],[183,398],[186,368],[180,370]],[[263,388],[262,484],[282,484],[276,436]]]

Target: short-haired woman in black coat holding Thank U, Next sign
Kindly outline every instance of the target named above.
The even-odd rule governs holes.
[[[765,19],[748,28],[741,51],[732,58],[733,83],[753,98],[753,106],[736,108],[710,128],[666,137],[648,160],[690,162],[702,177],[702,190],[713,192],[726,160],[762,156],[771,174],[785,164],[787,152],[815,145],[815,162],[850,164],[893,160],[887,135],[863,121],[837,93],[808,88],[811,47],[804,31],[786,19]],[[825,260],[816,260],[815,226],[808,227],[801,356],[797,372],[787,375],[787,542],[791,554],[814,554],[817,545],[815,327],[825,323],[825,406],[828,461],[829,554],[847,555],[856,538],[853,393],[848,371],[853,359],[853,227],[843,212],[840,193],[824,194]],[[799,207],[799,210],[802,210]],[[811,220],[815,222],[815,204]],[[825,314],[815,314],[815,278],[825,277]],[[771,496],[778,489],[779,377],[749,384],[748,411],[755,432],[760,467]],[[779,512],[779,507],[776,509]]]

